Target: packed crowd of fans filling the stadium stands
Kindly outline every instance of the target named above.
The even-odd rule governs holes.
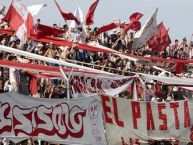
[[[5,7],[2,6],[0,8],[0,19],[4,17],[4,12]],[[41,24],[40,19],[38,19],[34,25],[35,31],[37,30],[39,24]],[[6,29],[8,27],[7,23],[1,23],[1,29]],[[125,76],[135,75],[135,72],[153,75],[175,75],[175,73],[172,72],[162,74],[160,70],[156,70],[149,65],[136,63],[118,55],[81,50],[77,47],[77,43],[102,45],[133,57],[161,57],[167,59],[185,60],[193,58],[193,42],[188,42],[186,38],[183,38],[182,41],[175,40],[173,44],[169,45],[163,51],[158,52],[149,48],[148,45],[144,45],[142,48],[132,49],[134,32],[126,34],[122,27],[113,30],[110,33],[106,32],[100,35],[96,35],[98,30],[97,27],[94,29],[90,27],[70,28],[68,25],[64,25],[61,28],[57,24],[53,24],[53,27],[65,30],[66,33],[58,37],[64,40],[72,41],[73,44],[70,48],[67,46],[57,47],[52,42],[42,43],[31,39],[28,39],[24,45],[20,45],[20,40],[17,38],[15,32],[13,32],[12,36],[1,34],[0,44],[49,58],[76,63]],[[6,52],[0,53],[0,59],[55,66],[55,64],[48,64],[42,61]],[[184,68],[184,70],[185,71],[182,76],[187,73],[189,73],[189,76],[192,75],[187,68]],[[28,72],[16,70],[14,68],[1,68],[1,91],[19,91],[22,94],[30,95],[30,79],[31,76]],[[133,94],[131,92],[132,90],[128,89],[127,91],[121,93],[120,97],[132,99]],[[137,93],[139,100],[146,101],[171,101],[192,98],[192,93],[190,91],[179,86],[164,85],[160,82],[154,82],[153,84],[146,85],[146,88],[141,86],[139,83],[137,85]],[[65,97],[66,86],[64,81],[43,78],[39,79],[37,96],[46,98]]]

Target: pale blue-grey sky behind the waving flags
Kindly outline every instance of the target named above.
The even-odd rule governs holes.
[[[43,24],[53,23],[64,24],[53,0],[23,0],[29,6],[32,4],[46,3],[38,18]],[[64,11],[74,12],[76,5],[79,5],[85,14],[88,7],[94,0],[57,0]],[[0,4],[9,6],[11,0],[0,0]],[[163,21],[170,29],[172,40],[186,37],[188,40],[193,33],[193,0],[100,0],[95,12],[95,26],[110,23],[115,18],[128,21],[129,15],[133,12],[141,12],[144,16],[142,24],[148,19],[156,7],[158,11],[158,23]]]

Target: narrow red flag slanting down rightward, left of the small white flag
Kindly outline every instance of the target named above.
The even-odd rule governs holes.
[[[80,21],[74,16],[74,14],[63,12],[62,9],[60,8],[59,4],[57,3],[57,1],[54,0],[54,2],[56,3],[56,6],[58,7],[58,9],[59,9],[59,11],[60,11],[60,13],[65,21],[74,20],[78,25],[80,25]]]

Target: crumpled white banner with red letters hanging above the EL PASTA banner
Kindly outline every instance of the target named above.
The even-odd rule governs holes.
[[[74,97],[93,94],[118,95],[125,91],[135,78],[87,73],[72,73],[68,76]]]

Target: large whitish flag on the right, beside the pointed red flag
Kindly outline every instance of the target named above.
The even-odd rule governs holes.
[[[157,32],[157,12],[158,8],[154,11],[153,15],[148,19],[145,25],[135,33],[134,43],[132,48],[140,48],[155,35]]]

